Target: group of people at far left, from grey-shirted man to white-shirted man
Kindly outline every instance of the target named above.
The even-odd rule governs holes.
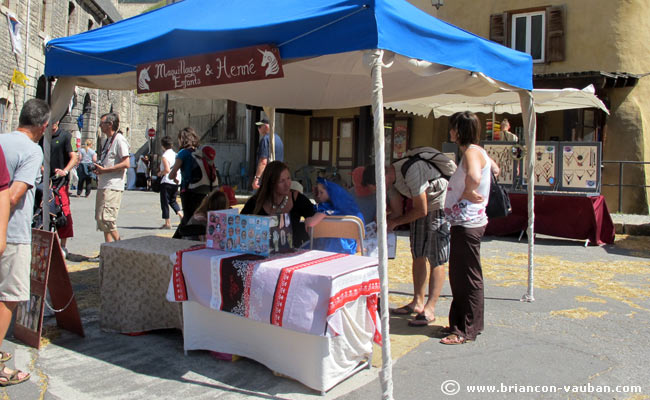
[[[25,102],[18,128],[0,134],[0,345],[11,323],[16,306],[30,299],[31,229],[37,182],[43,171],[42,138],[52,123],[51,178],[58,188],[55,201],[62,206],[66,223],[57,229],[61,243],[72,237],[72,216],[68,195],[70,171],[77,168],[77,152],[73,151],[69,133],[50,122],[50,108],[40,99]],[[119,117],[108,113],[101,117],[100,129],[106,137],[99,158],[91,149],[92,142],[79,150],[80,175],[78,193],[87,179],[96,174],[98,180],[95,203],[97,229],[107,242],[119,240],[115,224],[124,191],[124,174],[129,167],[126,139],[117,133]],[[39,146],[41,142],[41,146]],[[90,187],[86,186],[86,195]],[[14,385],[30,378],[29,373],[10,369],[5,363],[12,354],[0,351],[0,386]]]

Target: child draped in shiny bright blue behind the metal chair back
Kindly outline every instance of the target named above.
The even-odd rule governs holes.
[[[363,215],[352,195],[343,187],[327,179],[318,178],[316,215],[311,218],[307,227],[312,227],[327,215],[354,215],[362,223]],[[314,239],[314,249],[332,251],[335,253],[355,254],[357,242],[354,239],[318,238]]]

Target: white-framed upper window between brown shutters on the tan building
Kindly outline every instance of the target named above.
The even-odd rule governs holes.
[[[514,14],[512,16],[511,47],[544,61],[544,12]]]

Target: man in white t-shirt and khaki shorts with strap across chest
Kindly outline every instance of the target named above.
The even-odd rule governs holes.
[[[99,162],[93,164],[97,174],[95,220],[97,230],[104,233],[106,242],[120,240],[117,215],[124,193],[126,169],[129,168],[129,143],[117,132],[119,126],[120,118],[117,114],[102,115],[99,127],[106,135],[106,141],[102,146]]]

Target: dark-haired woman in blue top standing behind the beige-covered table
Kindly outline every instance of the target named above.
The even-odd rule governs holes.
[[[172,181],[176,181],[176,174],[179,170],[181,171],[181,203],[183,203],[181,225],[184,225],[208,195],[208,192],[194,191],[188,187],[192,179],[192,153],[199,146],[199,136],[194,129],[187,127],[178,132],[178,146],[180,151],[176,155],[176,161],[168,177]]]

